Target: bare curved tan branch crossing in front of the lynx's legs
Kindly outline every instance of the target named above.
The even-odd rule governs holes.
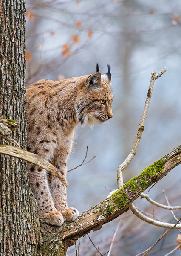
[[[28,163],[36,164],[44,168],[48,172],[50,172],[52,175],[55,175],[56,177],[58,177],[62,181],[62,183],[64,183],[65,186],[68,187],[68,183],[65,180],[65,178],[62,176],[62,174],[59,172],[59,169],[57,169],[47,160],[43,159],[42,157],[39,157],[36,154],[27,152],[21,148],[17,148],[10,145],[0,145],[0,154],[7,154],[9,156],[17,157],[19,159],[25,160]]]

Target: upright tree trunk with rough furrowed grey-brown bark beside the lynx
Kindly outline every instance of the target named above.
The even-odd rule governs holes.
[[[25,149],[24,0],[0,1],[0,116],[20,122],[14,139]],[[40,224],[23,160],[0,155],[0,203],[0,255],[37,255]]]

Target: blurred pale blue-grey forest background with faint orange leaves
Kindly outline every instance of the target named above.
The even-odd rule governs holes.
[[[27,0],[27,86],[40,79],[58,80],[111,66],[113,118],[102,125],[76,129],[68,169],[68,205],[83,212],[117,189],[116,171],[130,153],[138,130],[151,73],[167,68],[155,82],[145,129],[137,154],[124,170],[124,182],[181,144],[181,1],[180,0]],[[149,191],[154,200],[181,204],[181,166]],[[136,206],[163,221],[175,223],[167,210],[137,199]],[[178,219],[181,212],[175,212]],[[111,256],[135,256],[150,247],[164,229],[145,224],[130,212],[90,236],[107,253],[120,222]],[[164,256],[178,244],[171,230],[148,255]],[[88,236],[76,244],[80,256],[97,251]],[[76,255],[75,247],[68,256]],[[107,255],[107,254],[105,254]],[[139,254],[143,255],[143,254]],[[175,250],[172,255],[181,255]]]

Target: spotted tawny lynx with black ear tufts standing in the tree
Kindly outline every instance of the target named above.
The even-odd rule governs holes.
[[[45,158],[67,175],[76,125],[102,124],[113,114],[111,73],[96,73],[60,81],[42,79],[26,91],[27,150]],[[74,221],[79,212],[68,207],[66,187],[39,166],[28,163],[28,176],[40,213],[47,224]]]

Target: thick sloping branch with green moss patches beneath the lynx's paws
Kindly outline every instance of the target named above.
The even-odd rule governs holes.
[[[130,204],[145,189],[161,180],[180,163],[181,146],[178,146],[178,148],[144,169],[140,175],[125,183],[122,189],[113,193],[109,198],[82,212],[74,222],[65,222],[62,227],[58,228],[43,224],[44,229],[48,229],[48,237],[54,234],[54,237],[58,237],[58,239],[65,239],[65,244],[67,243],[68,247],[71,239],[76,240],[91,230],[99,230],[103,224],[126,212]]]

